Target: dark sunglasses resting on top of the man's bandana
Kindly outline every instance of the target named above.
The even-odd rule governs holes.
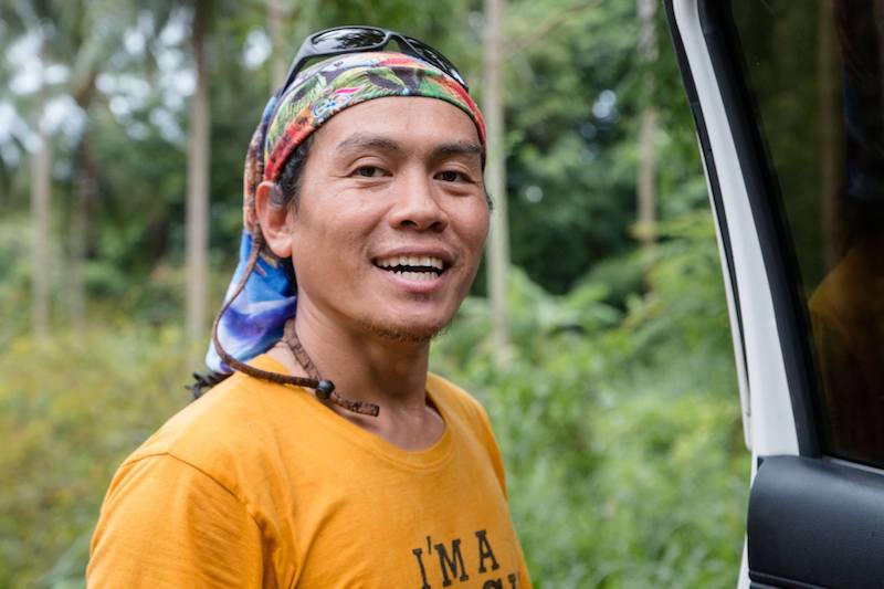
[[[434,65],[453,77],[463,86],[463,90],[470,92],[466,80],[454,67],[454,64],[423,41],[378,27],[336,27],[313,33],[304,40],[291,67],[288,67],[285,84],[280,88],[277,96],[285,94],[285,91],[288,90],[308,60],[343,55],[345,53],[379,51],[387,46],[390,41],[396,41],[399,44],[401,53]]]

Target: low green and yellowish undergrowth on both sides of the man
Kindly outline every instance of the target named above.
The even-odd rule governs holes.
[[[539,588],[734,585],[749,456],[712,221],[693,214],[664,234],[649,259],[617,261],[648,276],[645,293],[617,294],[603,269],[556,296],[516,272],[503,365],[482,298],[435,344],[433,369],[492,418]],[[0,586],[82,586],[113,470],[188,401],[185,353],[178,328],[130,317],[8,341]]]

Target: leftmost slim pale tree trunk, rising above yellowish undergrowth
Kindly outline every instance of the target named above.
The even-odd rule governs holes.
[[[38,101],[36,126],[40,145],[34,154],[31,170],[31,329],[34,338],[43,339],[49,334],[52,154],[44,122],[44,91],[40,91]]]

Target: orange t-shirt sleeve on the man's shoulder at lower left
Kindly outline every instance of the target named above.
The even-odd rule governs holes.
[[[246,505],[193,465],[151,455],[117,472],[92,538],[88,587],[261,587]]]

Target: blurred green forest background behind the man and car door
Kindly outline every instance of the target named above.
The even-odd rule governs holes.
[[[661,12],[0,0],[0,587],[84,585],[112,473],[203,370],[264,103],[354,23],[440,49],[490,118],[494,245],[432,366],[488,409],[536,587],[733,587],[749,454]]]

